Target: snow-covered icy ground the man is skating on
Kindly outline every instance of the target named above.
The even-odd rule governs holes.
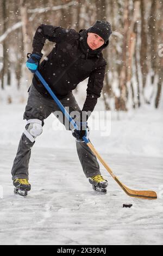
[[[32,151],[32,191],[27,198],[14,196],[10,170],[24,129],[24,107],[0,105],[1,245],[163,244],[162,107],[120,113],[120,120],[117,113],[111,113],[110,135],[102,136],[99,131],[90,135],[124,184],[136,190],[154,190],[157,200],[128,197],[103,166],[108,193],[92,191],[71,132],[55,131],[53,115],[45,121]],[[133,207],[122,208],[123,203]]]

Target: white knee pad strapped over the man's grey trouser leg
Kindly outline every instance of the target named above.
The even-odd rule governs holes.
[[[39,119],[29,119],[27,121],[26,130],[23,133],[29,141],[34,142],[35,138],[42,133],[42,121]]]

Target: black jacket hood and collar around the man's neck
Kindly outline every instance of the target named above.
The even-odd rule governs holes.
[[[79,31],[80,47],[82,48],[83,53],[86,54],[86,59],[88,57],[93,57],[93,56],[97,56],[97,58],[99,58],[102,54],[102,50],[104,50],[104,48],[106,48],[109,45],[109,40],[106,41],[101,47],[97,48],[96,50],[92,50],[87,44],[87,33],[88,33],[87,29],[81,29]]]

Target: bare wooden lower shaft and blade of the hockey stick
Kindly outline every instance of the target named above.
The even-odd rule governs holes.
[[[89,142],[87,146],[91,149],[91,151],[95,154],[98,160],[103,164],[106,170],[110,173],[112,178],[117,182],[118,185],[122,188],[122,190],[128,194],[130,197],[142,198],[142,199],[157,199],[157,194],[154,191],[139,191],[139,190],[130,190],[127,186],[123,185],[122,182],[114,175],[108,164],[102,159],[102,157],[98,154],[97,150],[93,147],[93,145]]]

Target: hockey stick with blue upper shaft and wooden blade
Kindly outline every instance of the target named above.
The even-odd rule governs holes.
[[[74,122],[74,120],[71,118],[70,114],[66,111],[65,107],[61,104],[61,102],[58,100],[57,96],[53,93],[51,88],[48,86],[46,81],[43,79],[39,71],[35,72],[35,75],[39,78],[43,86],[47,89],[48,93],[52,96],[53,100],[57,103],[59,108],[61,109],[62,113],[64,113],[65,117],[70,121],[70,123],[73,125],[74,129],[78,130],[77,124]],[[108,166],[108,164],[102,159],[102,157],[98,154],[97,150],[93,147],[93,145],[90,143],[90,141],[84,136],[83,137],[84,142],[87,144],[87,146],[91,149],[93,154],[98,158],[98,160],[103,164],[103,166],[108,170],[112,178],[117,182],[117,184],[128,194],[130,197],[135,198],[142,198],[142,199],[156,199],[157,194],[154,191],[139,191],[139,190],[130,190],[127,186],[122,184],[122,182],[117,178],[117,176],[112,173],[112,170]]]

